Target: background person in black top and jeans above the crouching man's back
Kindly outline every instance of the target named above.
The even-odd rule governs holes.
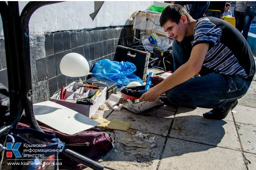
[[[211,1],[204,16],[213,16],[216,18],[221,18],[225,10],[225,5],[226,1]]]

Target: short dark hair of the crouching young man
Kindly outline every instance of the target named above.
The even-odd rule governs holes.
[[[180,18],[185,15],[189,21],[192,21],[192,17],[189,15],[188,11],[179,4],[168,5],[162,12],[160,17],[160,26],[163,27],[167,21],[180,23]]]

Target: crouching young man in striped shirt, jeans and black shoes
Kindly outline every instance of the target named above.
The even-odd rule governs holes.
[[[208,119],[224,119],[248,90],[255,74],[253,54],[233,25],[215,17],[192,19],[181,5],[169,5],[160,25],[173,38],[174,73],[155,75],[140,101],[165,92],[170,103],[211,108]]]

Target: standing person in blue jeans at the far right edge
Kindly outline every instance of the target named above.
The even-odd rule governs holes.
[[[248,32],[253,20],[256,16],[256,1],[246,1],[245,2],[245,12],[244,12],[244,29],[242,35],[247,40]]]

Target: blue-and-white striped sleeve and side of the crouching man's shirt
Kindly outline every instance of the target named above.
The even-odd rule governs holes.
[[[194,28],[194,40],[191,42],[192,46],[199,43],[210,44],[203,65],[221,74],[248,78],[233,52],[221,43],[221,36],[222,29],[213,24],[207,17],[197,20]]]

